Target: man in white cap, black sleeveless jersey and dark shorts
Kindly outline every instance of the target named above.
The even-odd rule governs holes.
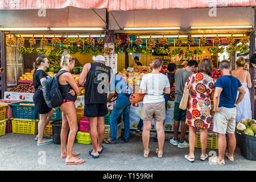
[[[105,133],[104,117],[108,114],[106,103],[111,78],[112,69],[105,65],[104,56],[98,55],[94,63],[84,65],[78,81],[79,85],[85,88],[84,115],[88,117],[90,123],[93,150],[90,150],[89,154],[93,158],[98,158],[103,150],[101,144]]]

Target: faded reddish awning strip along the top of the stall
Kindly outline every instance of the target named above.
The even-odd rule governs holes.
[[[73,6],[81,9],[106,8],[109,11],[128,11],[256,6],[256,0],[1,0],[0,2],[0,10],[63,9]]]

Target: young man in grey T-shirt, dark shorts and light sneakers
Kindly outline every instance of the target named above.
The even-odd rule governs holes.
[[[181,110],[179,108],[181,98],[183,96],[183,90],[185,87],[185,82],[188,80],[188,77],[196,71],[197,61],[190,60],[188,61],[187,67],[179,68],[175,72],[175,100],[174,100],[174,138],[170,139],[170,143],[178,148],[189,147],[189,144],[184,140],[185,133],[187,131],[186,113],[187,110]],[[177,133],[179,131],[181,121],[181,130],[180,130],[180,142],[177,140]]]

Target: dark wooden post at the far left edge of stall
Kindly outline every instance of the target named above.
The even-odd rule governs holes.
[[[5,97],[5,90],[6,90],[6,66],[5,66],[5,32],[0,31],[0,39],[1,39],[1,68],[3,68],[3,73],[1,73],[1,91],[2,91],[2,98]]]

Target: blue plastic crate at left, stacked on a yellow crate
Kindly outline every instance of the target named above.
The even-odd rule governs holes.
[[[35,114],[35,106],[20,104],[34,104],[34,102],[24,101],[17,104],[11,104],[11,106],[13,106],[13,118],[38,119],[38,114]]]

